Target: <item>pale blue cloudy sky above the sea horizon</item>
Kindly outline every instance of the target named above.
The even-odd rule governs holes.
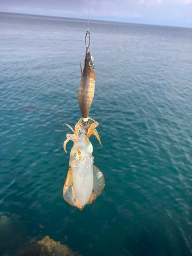
[[[0,12],[192,28],[192,0],[0,0]],[[1,14],[0,14],[1,15]]]

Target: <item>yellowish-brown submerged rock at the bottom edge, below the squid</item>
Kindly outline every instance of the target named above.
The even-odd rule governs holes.
[[[19,251],[17,256],[81,256],[78,252],[73,252],[67,245],[61,245],[50,239],[49,236],[32,243],[24,251]]]

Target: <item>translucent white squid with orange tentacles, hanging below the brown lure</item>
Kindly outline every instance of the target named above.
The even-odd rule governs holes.
[[[103,174],[93,164],[93,146],[89,140],[93,134],[101,144],[95,129],[98,122],[89,118],[93,121],[89,124],[82,122],[82,119],[75,125],[75,131],[66,124],[74,134],[67,134],[67,140],[63,144],[66,151],[67,142],[69,140],[74,142],[70,152],[68,175],[63,187],[63,198],[79,210],[82,210],[86,204],[92,204],[104,188]]]

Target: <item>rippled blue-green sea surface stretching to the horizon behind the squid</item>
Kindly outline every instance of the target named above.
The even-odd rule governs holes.
[[[81,117],[87,26],[0,13],[0,255],[44,236],[82,256],[192,255],[192,29],[90,20],[105,188],[79,211],[63,123]]]

